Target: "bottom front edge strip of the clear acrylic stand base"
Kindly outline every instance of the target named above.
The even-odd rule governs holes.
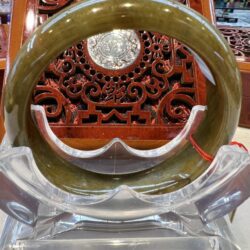
[[[239,250],[220,237],[18,241],[8,250]]]

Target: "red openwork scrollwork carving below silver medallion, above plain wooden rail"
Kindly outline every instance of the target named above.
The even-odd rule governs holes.
[[[57,112],[49,113],[52,107],[45,105],[49,122],[56,124],[60,110],[60,124],[184,124],[191,108],[201,104],[193,57],[174,39],[146,31],[138,36],[141,56],[132,68],[119,74],[94,63],[87,41],[72,46],[51,63],[34,98],[40,104],[55,93]],[[69,104],[75,108],[68,109]]]

